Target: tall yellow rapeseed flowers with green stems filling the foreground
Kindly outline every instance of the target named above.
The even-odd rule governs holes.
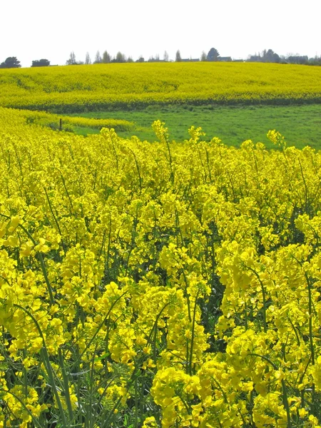
[[[321,153],[153,129],[0,108],[0,427],[320,428]]]

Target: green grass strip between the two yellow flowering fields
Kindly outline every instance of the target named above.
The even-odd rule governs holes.
[[[74,113],[78,116],[79,113]],[[153,141],[155,133],[151,123],[160,119],[170,130],[170,139],[183,141],[190,138],[188,128],[201,126],[206,133],[205,140],[213,136],[220,138],[229,146],[240,146],[246,136],[255,143],[261,141],[268,148],[272,143],[267,139],[267,131],[277,129],[292,146],[303,148],[307,145],[321,148],[321,104],[305,106],[149,106],[133,111],[96,111],[81,113],[86,120],[103,121],[112,119],[131,121],[133,127],[128,131],[118,128],[119,136],[130,138],[133,134],[142,141]],[[65,116],[64,116],[65,117]],[[66,117],[66,123],[70,118]],[[65,118],[63,118],[65,123]],[[76,133],[87,135],[98,133],[93,126],[79,126],[75,123]],[[98,122],[99,123],[99,122]]]

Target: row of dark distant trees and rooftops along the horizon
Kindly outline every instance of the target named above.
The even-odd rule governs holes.
[[[85,61],[78,61],[76,59],[75,53],[72,51],[69,58],[66,61],[67,66],[73,65],[82,65],[82,64],[98,64],[98,63],[132,63],[132,62],[170,62],[168,52],[165,51],[163,58],[160,58],[159,55],[151,56],[146,61],[143,56],[139,56],[136,61],[133,60],[131,56],[126,57],[125,54],[118,51],[116,56],[111,56],[108,54],[108,51],[103,51],[103,54],[100,54],[100,51],[96,52],[96,56],[91,61],[91,56],[89,53],[86,53]],[[307,55],[299,54],[288,54],[287,56],[279,56],[272,49],[265,49],[264,51],[249,55],[246,59],[233,59],[230,56],[220,56],[218,49],[211,48],[208,51],[208,54],[205,51],[202,52],[200,58],[182,58],[180,55],[180,50],[176,51],[175,62],[194,62],[194,61],[235,61],[235,62],[263,62],[263,63],[292,63],[292,64],[302,64],[302,65],[317,65],[321,66],[321,56],[315,56],[314,58],[309,58]],[[48,59],[42,58],[34,60],[31,63],[31,67],[46,67],[50,66],[50,61]],[[0,63],[0,68],[19,68],[21,67],[20,61],[16,56],[10,56],[6,60]]]

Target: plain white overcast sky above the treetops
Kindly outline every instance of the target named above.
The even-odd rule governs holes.
[[[263,49],[320,56],[320,12],[321,0],[0,0],[0,62],[64,64],[71,51],[84,61],[98,50],[199,58],[211,47],[233,58]]]

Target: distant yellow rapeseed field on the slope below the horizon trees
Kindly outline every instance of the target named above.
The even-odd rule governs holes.
[[[94,111],[154,103],[321,101],[320,67],[125,63],[0,70],[0,106]]]

